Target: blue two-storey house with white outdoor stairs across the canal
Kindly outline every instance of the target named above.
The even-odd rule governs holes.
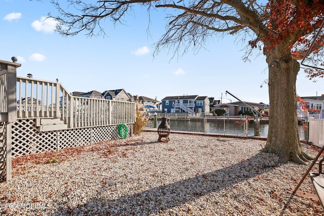
[[[165,97],[161,100],[162,112],[165,113],[201,113],[209,114],[210,101],[206,96],[184,95]]]

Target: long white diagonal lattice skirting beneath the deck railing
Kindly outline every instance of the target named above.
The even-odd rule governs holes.
[[[132,125],[126,126],[127,136],[130,136]],[[12,157],[57,151],[118,138],[118,125],[38,132],[33,119],[19,119],[12,126]]]

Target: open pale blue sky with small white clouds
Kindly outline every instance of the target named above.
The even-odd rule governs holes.
[[[0,59],[18,58],[17,76],[59,82],[68,92],[124,89],[131,95],[161,100],[170,96],[214,97],[222,103],[241,100],[269,103],[268,68],[264,56],[244,62],[242,42],[235,36],[210,38],[199,52],[189,49],[180,57],[162,50],[153,58],[154,43],[168,22],[163,11],[149,18],[145,10],[125,17],[124,24],[107,20],[107,36],[87,37],[86,32],[64,37],[56,22],[45,17],[57,14],[49,1],[0,0]],[[149,29],[149,31],[148,31]],[[260,88],[260,86],[263,86]],[[297,76],[297,95],[324,94],[324,80]]]

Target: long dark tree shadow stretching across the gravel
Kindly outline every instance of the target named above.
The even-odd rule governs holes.
[[[280,164],[277,161],[273,161],[271,164],[265,162],[269,156],[267,153],[260,152],[249,159],[207,174],[161,185],[146,191],[127,194],[117,199],[107,198],[107,193],[113,193],[113,191],[109,191],[108,187],[102,187],[98,190],[95,198],[83,205],[68,209],[66,207],[68,203],[61,203],[57,214],[73,215],[77,212],[101,215],[156,214],[271,171]],[[257,165],[252,166],[251,164]],[[86,210],[89,208],[93,211]]]

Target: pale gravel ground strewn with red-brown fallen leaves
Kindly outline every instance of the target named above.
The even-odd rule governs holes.
[[[0,183],[0,214],[324,214],[316,199],[289,199],[308,166],[278,163],[260,152],[265,141],[171,134],[158,143],[157,137],[145,132],[15,158],[12,181]],[[300,190],[314,193],[309,177]]]

